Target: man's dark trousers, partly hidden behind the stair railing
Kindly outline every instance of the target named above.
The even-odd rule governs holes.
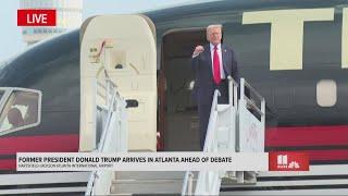
[[[213,84],[213,89],[217,89],[221,96],[217,98],[217,103],[227,105],[228,103],[228,82],[223,79],[219,85]],[[209,95],[207,95],[209,96]],[[213,101],[213,96],[208,105],[198,105],[198,114],[199,114],[199,131],[200,131],[200,148],[203,150],[204,140],[207,135],[207,128],[210,118],[211,105]]]

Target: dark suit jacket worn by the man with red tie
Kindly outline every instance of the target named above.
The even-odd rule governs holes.
[[[221,45],[224,73],[239,82],[237,60],[232,48]],[[198,105],[211,105],[213,98],[213,73],[210,45],[204,46],[204,51],[191,59],[191,69],[196,74],[192,99]]]

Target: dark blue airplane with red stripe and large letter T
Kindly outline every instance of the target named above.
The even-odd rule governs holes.
[[[130,149],[199,150],[190,58],[197,45],[207,44],[206,27],[222,24],[223,42],[236,51],[240,75],[265,97],[265,150],[307,152],[316,172],[266,174],[259,177],[260,186],[223,186],[222,192],[348,193],[347,1],[209,1],[142,14],[156,27],[151,79],[157,79],[158,105],[148,111],[154,115],[141,115],[154,130],[133,131]],[[83,35],[84,25],[0,66],[1,170],[15,169],[16,151],[85,150],[79,133]]]

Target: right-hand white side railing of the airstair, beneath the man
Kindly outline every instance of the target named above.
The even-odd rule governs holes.
[[[229,103],[219,105],[219,90],[215,90],[204,152],[263,152],[264,151],[264,99],[244,79],[240,79],[240,99],[238,84],[228,76]],[[245,93],[256,95],[260,107]],[[254,113],[257,115],[254,115]],[[256,184],[256,171],[187,171],[182,195],[219,195],[222,181],[229,184]],[[195,185],[195,188],[194,188]],[[195,189],[195,191],[194,191]]]

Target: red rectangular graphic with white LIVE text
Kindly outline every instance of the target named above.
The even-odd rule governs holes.
[[[17,26],[55,26],[55,10],[17,10]]]

